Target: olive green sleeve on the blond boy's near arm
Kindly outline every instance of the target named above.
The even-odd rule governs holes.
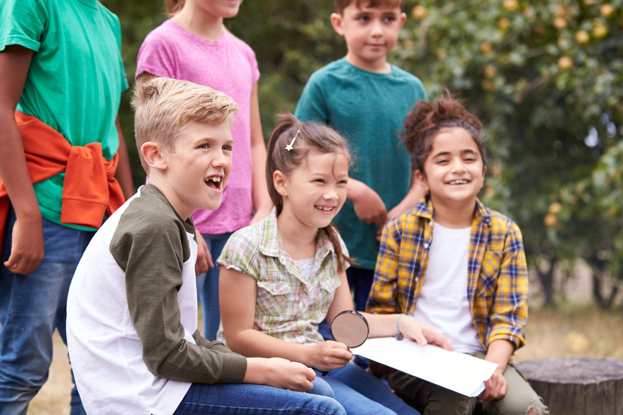
[[[143,344],[145,365],[157,376],[179,381],[242,382],[244,356],[221,342],[199,339],[198,332],[193,334],[196,345],[184,339],[178,305],[182,267],[190,255],[184,222],[141,210],[124,213],[110,251],[125,270],[128,311]]]

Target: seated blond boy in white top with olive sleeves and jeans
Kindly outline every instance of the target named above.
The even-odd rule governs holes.
[[[139,82],[132,104],[150,183],[95,234],[67,300],[69,354],[87,413],[343,413],[331,398],[297,393],[312,388],[311,369],[244,358],[197,330],[190,215],[221,204],[237,105],[167,78]]]

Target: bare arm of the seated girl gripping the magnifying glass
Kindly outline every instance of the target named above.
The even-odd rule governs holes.
[[[342,368],[352,354],[343,343],[325,341],[302,345],[274,338],[254,329],[257,285],[250,275],[221,267],[219,297],[227,346],[249,357],[280,357],[318,370]],[[352,308],[351,308],[352,309]]]

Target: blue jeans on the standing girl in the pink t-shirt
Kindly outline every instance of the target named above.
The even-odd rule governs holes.
[[[219,310],[219,267],[216,260],[221,255],[221,251],[227,239],[233,232],[224,234],[202,234],[206,240],[207,249],[212,255],[214,268],[210,268],[204,274],[197,277],[197,293],[203,308],[203,335],[207,340],[216,340],[216,332],[221,324],[221,310]]]

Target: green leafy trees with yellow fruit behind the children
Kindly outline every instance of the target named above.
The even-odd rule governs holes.
[[[141,42],[166,19],[163,2],[102,1],[120,17],[132,79]],[[420,77],[430,98],[447,88],[482,120],[490,161],[481,197],[520,225],[546,303],[554,265],[576,257],[591,265],[602,307],[616,295],[604,281],[623,280],[621,3],[407,0],[407,14],[419,6],[426,16],[409,16],[389,57]],[[277,113],[294,110],[309,75],[345,54],[331,12],[330,0],[246,0],[226,21],[257,55],[265,137]],[[139,184],[130,94],[121,124]]]

